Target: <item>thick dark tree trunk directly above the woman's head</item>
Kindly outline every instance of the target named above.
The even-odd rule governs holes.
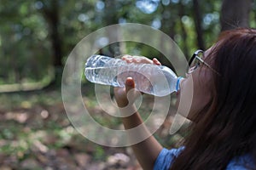
[[[224,0],[221,8],[221,31],[249,27],[252,0]]]

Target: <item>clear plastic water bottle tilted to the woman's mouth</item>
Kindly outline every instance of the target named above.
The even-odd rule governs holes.
[[[159,97],[178,91],[182,79],[164,65],[127,63],[104,55],[87,59],[84,74],[90,82],[113,87],[125,87],[126,78],[132,77],[138,91]]]

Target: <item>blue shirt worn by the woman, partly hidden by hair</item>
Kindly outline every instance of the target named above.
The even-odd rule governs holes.
[[[160,151],[159,156],[154,162],[154,170],[168,170],[172,166],[172,161],[179,155],[184,149],[180,147],[178,149],[167,150],[164,148]],[[226,170],[247,170],[256,169],[252,156],[245,155],[239,156],[230,161]]]

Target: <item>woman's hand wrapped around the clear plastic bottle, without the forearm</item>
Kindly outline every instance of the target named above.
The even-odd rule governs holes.
[[[153,64],[161,65],[158,59],[148,59],[142,56],[131,56],[125,55],[122,57],[127,63],[142,63],[142,64]],[[132,77],[127,77],[125,81],[125,88],[114,88],[114,96],[119,107],[125,107],[133,105],[134,101],[137,99],[140,92],[135,89],[135,82]]]

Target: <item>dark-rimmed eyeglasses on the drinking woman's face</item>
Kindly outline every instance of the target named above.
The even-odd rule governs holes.
[[[216,74],[220,75],[218,71],[214,70],[211,65],[208,65],[202,58],[204,56],[204,51],[201,49],[198,49],[195,51],[195,53],[192,55],[191,59],[189,59],[189,69],[187,71],[188,74],[191,74],[194,72],[201,64],[207,65],[207,67],[215,72]]]

